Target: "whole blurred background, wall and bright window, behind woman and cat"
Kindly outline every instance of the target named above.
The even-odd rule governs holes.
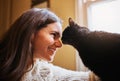
[[[119,4],[119,0],[0,0],[0,38],[24,11],[33,7],[50,8],[63,20],[63,30],[71,17],[79,25],[91,30],[119,33]],[[58,50],[53,64],[87,71],[77,51],[69,45],[63,45]]]

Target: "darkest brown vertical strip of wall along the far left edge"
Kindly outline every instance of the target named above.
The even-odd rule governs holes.
[[[0,0],[0,38],[10,25],[10,0]]]

